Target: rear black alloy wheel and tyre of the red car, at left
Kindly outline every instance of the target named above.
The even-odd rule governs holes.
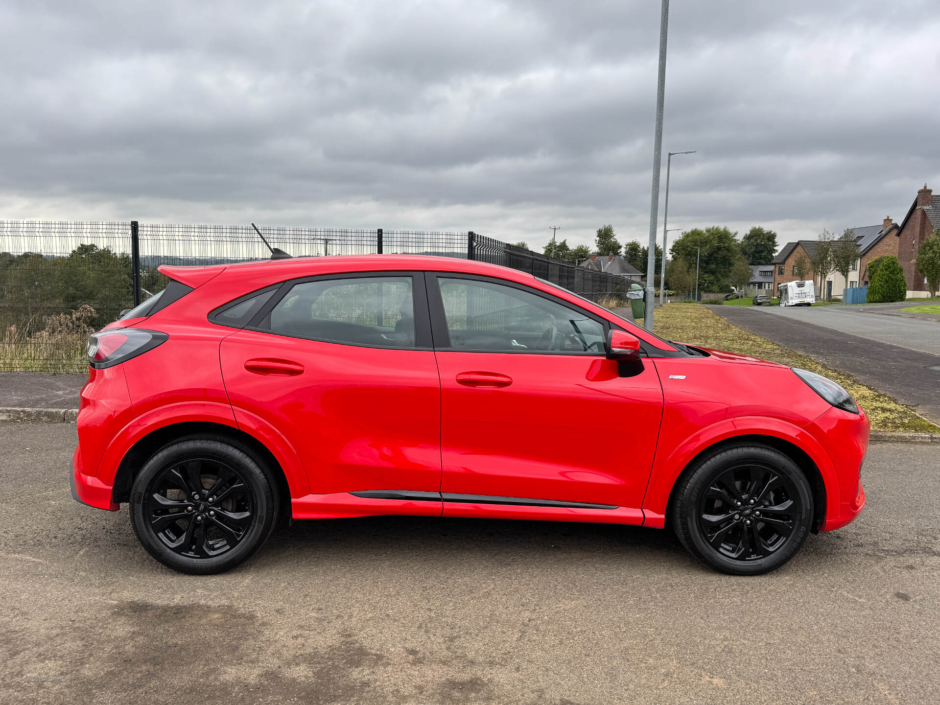
[[[137,540],[167,568],[193,575],[225,572],[247,560],[267,540],[276,517],[267,468],[212,436],[164,446],[131,488]]]

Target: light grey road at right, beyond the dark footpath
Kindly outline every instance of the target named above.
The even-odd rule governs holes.
[[[908,303],[908,305],[917,304]],[[940,323],[937,321],[888,316],[874,313],[872,310],[862,310],[862,307],[852,305],[734,307],[740,307],[758,315],[779,316],[784,319],[822,325],[842,333],[897,345],[908,350],[940,355]],[[892,306],[892,308],[896,307]]]

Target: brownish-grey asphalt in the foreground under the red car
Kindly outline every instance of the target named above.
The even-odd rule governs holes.
[[[71,499],[74,443],[0,424],[4,703],[940,701],[933,444],[872,446],[853,525],[738,578],[653,529],[416,518],[180,575]]]

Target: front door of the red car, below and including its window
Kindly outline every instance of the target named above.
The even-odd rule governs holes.
[[[653,366],[620,377],[605,323],[539,290],[428,280],[445,514],[506,498],[639,508],[663,409]]]

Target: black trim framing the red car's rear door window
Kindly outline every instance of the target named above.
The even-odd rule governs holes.
[[[317,274],[315,276],[300,276],[295,279],[288,279],[287,281],[280,282],[274,287],[277,290],[274,292],[274,295],[268,299],[267,303],[258,310],[258,313],[252,318],[251,321],[248,321],[247,325],[244,326],[243,330],[246,331],[255,331],[256,333],[266,333],[270,336],[280,336],[280,337],[292,337],[300,340],[315,340],[316,342],[321,343],[330,343],[332,345],[346,345],[352,348],[374,348],[378,350],[423,350],[423,351],[433,351],[433,345],[431,342],[431,321],[429,317],[428,309],[428,295],[426,291],[424,276],[421,272],[415,272],[414,270],[378,270],[378,271],[361,271],[361,272],[335,272],[331,274]],[[367,345],[364,343],[352,343],[343,340],[327,340],[322,337],[313,337],[313,336],[299,336],[293,335],[290,333],[281,333],[279,331],[273,331],[271,328],[262,328],[260,327],[261,323],[266,321],[271,315],[271,312],[274,310],[274,306],[278,305],[281,301],[284,300],[284,297],[288,292],[297,284],[305,284],[306,282],[313,281],[328,281],[331,279],[375,279],[377,277],[411,277],[412,279],[412,303],[415,306],[415,345],[402,347],[400,345]],[[271,289],[272,287],[266,287],[265,289]],[[254,295],[257,295],[262,290],[257,290]],[[246,297],[251,296],[248,294]],[[246,298],[243,297],[243,298]],[[231,304],[238,303],[238,299],[230,302]]]

